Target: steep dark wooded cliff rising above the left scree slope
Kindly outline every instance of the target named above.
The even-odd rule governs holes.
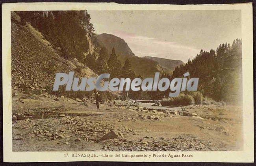
[[[17,11],[21,23],[30,23],[40,31],[66,59],[84,61],[92,54],[94,28],[87,11]]]

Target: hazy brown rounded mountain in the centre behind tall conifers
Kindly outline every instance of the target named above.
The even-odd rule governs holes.
[[[154,77],[155,72],[173,73],[171,69],[162,66],[157,61],[135,56],[128,44],[115,35],[103,33],[96,35],[96,38],[100,43],[100,47],[106,47],[108,54],[111,53],[111,50],[114,47],[122,63],[128,58],[137,76],[141,75],[144,78],[147,78]]]

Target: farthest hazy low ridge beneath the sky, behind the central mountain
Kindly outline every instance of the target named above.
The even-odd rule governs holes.
[[[161,66],[171,70],[174,70],[175,67],[180,66],[181,64],[185,65],[185,63],[180,60],[169,60],[165,58],[158,58],[158,57],[152,57],[152,56],[144,56],[142,58],[147,58],[149,60],[157,61]]]

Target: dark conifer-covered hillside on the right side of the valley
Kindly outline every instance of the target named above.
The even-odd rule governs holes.
[[[210,52],[201,50],[185,65],[176,67],[172,78],[189,71],[190,78],[199,78],[198,90],[204,96],[227,103],[240,102],[242,94],[242,41],[220,44]]]

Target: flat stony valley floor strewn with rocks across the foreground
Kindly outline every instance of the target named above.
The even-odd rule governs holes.
[[[13,151],[239,151],[236,106],[152,106],[14,92]],[[112,132],[111,132],[112,131]]]

